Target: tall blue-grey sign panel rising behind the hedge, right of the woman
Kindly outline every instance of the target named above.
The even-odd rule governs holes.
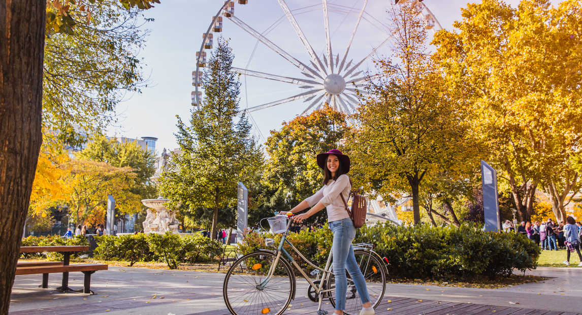
[[[497,172],[481,160],[481,183],[483,187],[483,212],[485,231],[501,230],[499,226],[499,201],[497,194]]]

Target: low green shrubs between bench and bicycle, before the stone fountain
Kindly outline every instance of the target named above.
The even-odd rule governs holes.
[[[170,269],[180,263],[207,262],[219,255],[222,244],[200,234],[131,234],[95,237],[95,258],[136,262],[165,262]]]

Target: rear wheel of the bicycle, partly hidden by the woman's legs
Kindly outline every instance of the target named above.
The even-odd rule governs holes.
[[[370,295],[370,303],[372,307],[378,306],[384,297],[384,292],[386,291],[386,268],[384,262],[378,258],[377,255],[372,254],[371,250],[365,249],[354,249],[354,256],[356,256],[356,262],[360,266],[360,270],[364,275],[365,285],[368,289],[368,294]],[[362,302],[360,295],[356,291],[356,285],[354,285],[350,274],[347,273],[347,290],[346,290],[346,309],[343,313],[347,315],[356,315],[360,312],[362,307]],[[328,278],[328,288],[335,288],[335,278],[333,274]],[[329,302],[335,307],[335,291],[329,292]]]

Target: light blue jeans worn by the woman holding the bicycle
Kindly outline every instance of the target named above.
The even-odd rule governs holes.
[[[335,275],[335,309],[346,309],[346,270],[352,277],[354,285],[356,285],[362,304],[370,302],[370,295],[368,295],[368,289],[365,287],[364,275],[356,262],[354,248],[352,247],[352,241],[356,237],[356,228],[354,228],[352,219],[346,218],[332,221],[329,223],[329,228],[333,232],[331,250],[333,255],[333,275]]]

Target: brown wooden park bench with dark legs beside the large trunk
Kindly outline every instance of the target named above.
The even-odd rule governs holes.
[[[70,254],[74,252],[84,252],[88,246],[22,246],[21,253],[42,253],[59,252],[63,253],[63,262],[20,262],[16,265],[16,275],[42,274],[42,288],[48,288],[48,274],[62,273],[63,281],[61,287],[56,288],[63,292],[73,292],[69,288],[69,273],[80,271],[85,275],[83,293],[91,293],[91,274],[97,270],[107,270],[107,264],[69,264]],[[81,290],[79,290],[81,291]]]

